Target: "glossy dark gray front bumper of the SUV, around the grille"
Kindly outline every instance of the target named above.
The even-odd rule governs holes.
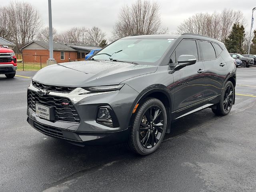
[[[39,89],[32,86],[29,91],[37,92]],[[49,92],[47,96],[59,96],[68,98],[79,115],[79,122],[66,122],[60,120],[46,120],[36,116],[35,112],[28,107],[28,123],[36,130],[55,138],[69,142],[102,144],[119,143],[128,139],[128,126],[133,110],[134,100],[138,92],[128,85],[124,85],[119,91],[104,93],[78,94],[76,89],[70,93]],[[42,103],[39,103],[42,104]],[[43,105],[43,104],[42,104]],[[118,120],[118,127],[108,127],[96,122],[98,108],[110,106]],[[62,136],[54,133],[59,130]]]

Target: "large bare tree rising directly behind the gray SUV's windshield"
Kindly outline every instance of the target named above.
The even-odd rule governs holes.
[[[112,40],[131,34],[166,34],[168,28],[162,26],[160,5],[157,2],[137,0],[132,6],[124,6],[113,26]]]

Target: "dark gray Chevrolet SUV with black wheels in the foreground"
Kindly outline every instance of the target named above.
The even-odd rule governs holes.
[[[56,78],[58,75],[58,78]],[[172,122],[235,103],[236,65],[224,44],[195,34],[128,36],[90,60],[41,69],[28,87],[27,121],[78,144],[126,143],[148,155]]]

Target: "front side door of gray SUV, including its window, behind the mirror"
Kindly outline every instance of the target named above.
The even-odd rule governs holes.
[[[173,119],[189,114],[197,108],[200,108],[204,99],[204,65],[198,52],[198,43],[196,40],[182,40],[171,60],[177,63],[180,55],[194,55],[196,63],[190,66],[174,71],[174,112]]]

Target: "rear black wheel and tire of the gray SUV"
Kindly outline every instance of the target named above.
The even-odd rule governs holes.
[[[231,81],[226,82],[220,96],[220,102],[217,104],[216,109],[212,109],[212,112],[220,116],[227,115],[233,106],[234,94],[234,85]]]

